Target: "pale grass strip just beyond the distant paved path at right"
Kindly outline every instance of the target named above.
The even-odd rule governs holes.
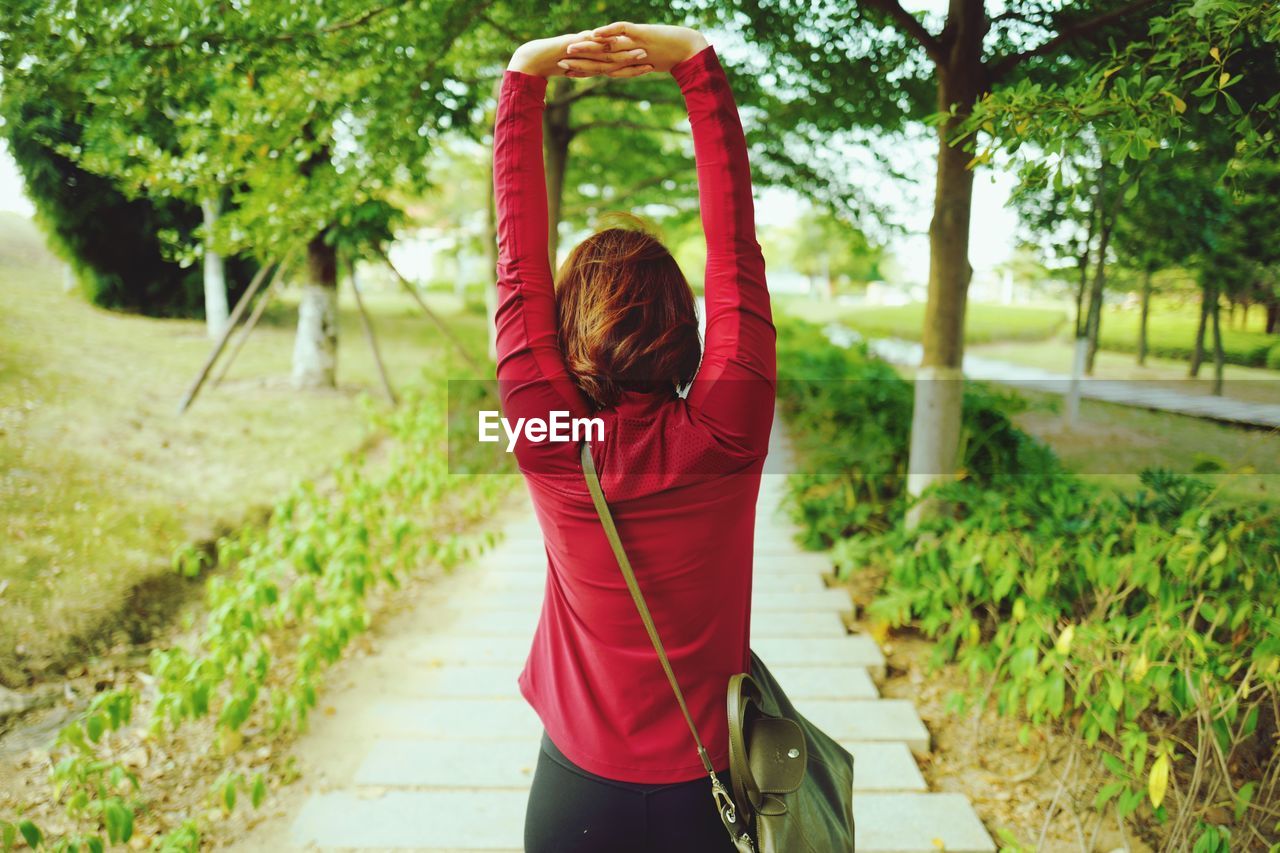
[[[1034,343],[983,343],[966,350],[984,359],[996,359],[1029,368],[1043,368],[1062,374],[1071,371],[1074,343],[1064,339]],[[1213,365],[1201,368],[1198,379],[1187,375],[1187,362],[1175,359],[1148,356],[1144,366],[1138,366],[1132,353],[1100,350],[1094,361],[1094,377],[1100,379],[1125,379],[1161,383],[1161,387],[1190,394],[1213,393]],[[1261,368],[1242,368],[1228,364],[1222,368],[1224,394],[1251,402],[1280,403],[1280,373]]]

